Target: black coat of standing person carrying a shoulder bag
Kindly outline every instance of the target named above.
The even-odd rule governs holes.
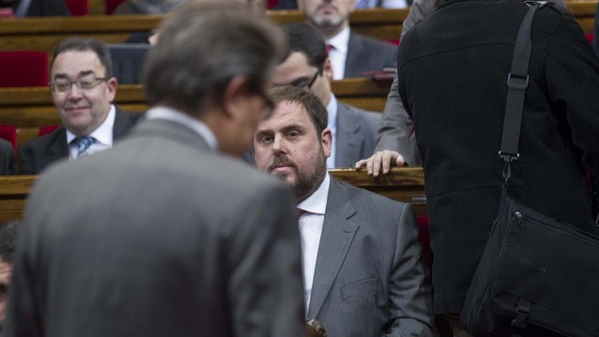
[[[506,79],[527,10],[519,0],[450,0],[401,42],[398,85],[425,171],[437,312],[461,311],[497,215]],[[586,171],[599,172],[599,61],[574,17],[553,5],[537,12],[532,40],[510,190],[597,233]]]

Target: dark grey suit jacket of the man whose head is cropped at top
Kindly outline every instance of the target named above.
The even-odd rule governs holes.
[[[364,77],[364,71],[395,67],[396,61],[397,46],[350,31],[345,78]]]

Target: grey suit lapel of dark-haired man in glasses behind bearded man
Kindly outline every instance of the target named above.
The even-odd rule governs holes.
[[[337,148],[335,149],[335,166],[339,163],[356,163],[361,160],[360,148],[364,137],[358,131],[360,125],[349,108],[339,103],[337,108]]]

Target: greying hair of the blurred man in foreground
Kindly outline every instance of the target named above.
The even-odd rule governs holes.
[[[280,28],[233,1],[188,2],[159,31],[144,68],[148,101],[195,115],[218,104],[235,76],[262,90],[285,52]]]

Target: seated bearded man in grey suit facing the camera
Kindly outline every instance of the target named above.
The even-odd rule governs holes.
[[[329,337],[435,336],[412,206],[332,179],[325,107],[293,86],[271,94],[255,162],[294,191],[307,318]]]

